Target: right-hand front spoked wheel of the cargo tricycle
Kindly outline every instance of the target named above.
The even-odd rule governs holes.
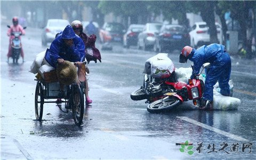
[[[78,85],[71,86],[72,114],[75,124],[80,126],[84,116],[84,94]]]

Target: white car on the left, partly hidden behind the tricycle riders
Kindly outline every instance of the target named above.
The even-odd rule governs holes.
[[[69,21],[65,19],[49,19],[42,32],[42,45],[46,46],[47,43],[52,43],[57,33],[60,33],[69,25]]]

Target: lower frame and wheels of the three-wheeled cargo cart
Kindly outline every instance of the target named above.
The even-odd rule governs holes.
[[[73,119],[77,126],[80,126],[84,115],[84,94],[81,86],[73,83],[65,85],[60,92],[59,82],[46,82],[44,79],[35,79],[35,114],[38,121],[42,121],[44,103],[56,103],[56,99],[63,99],[65,108],[72,110]],[[54,99],[51,101],[50,99]]]

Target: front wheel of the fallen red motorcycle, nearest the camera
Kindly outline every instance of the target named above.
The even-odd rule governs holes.
[[[165,97],[163,99],[150,103],[147,107],[147,110],[150,113],[160,113],[167,110],[171,110],[179,106],[180,103],[181,101],[176,97]]]

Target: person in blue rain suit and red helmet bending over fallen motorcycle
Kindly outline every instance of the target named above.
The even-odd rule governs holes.
[[[225,96],[230,95],[228,82],[231,73],[231,59],[225,50],[225,46],[214,43],[207,46],[203,45],[197,50],[185,46],[181,50],[179,61],[185,63],[187,59],[194,62],[196,74],[199,74],[199,70],[204,63],[211,63],[211,67],[207,69],[206,73],[203,108],[212,109],[213,86],[217,81],[219,82],[220,93]]]

